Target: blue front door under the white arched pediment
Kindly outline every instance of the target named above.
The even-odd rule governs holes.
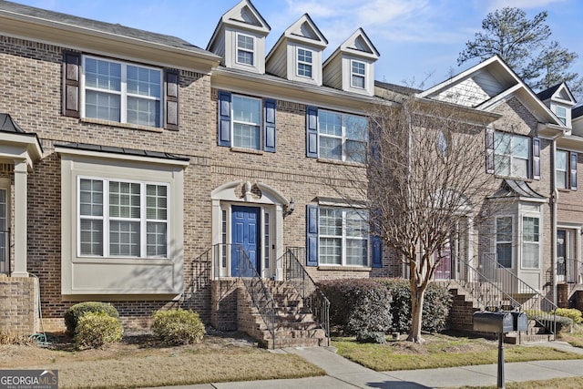
[[[233,206],[231,208],[230,275],[251,277],[251,267],[261,274],[260,261],[260,208]],[[245,251],[251,264],[240,258],[240,250]]]

